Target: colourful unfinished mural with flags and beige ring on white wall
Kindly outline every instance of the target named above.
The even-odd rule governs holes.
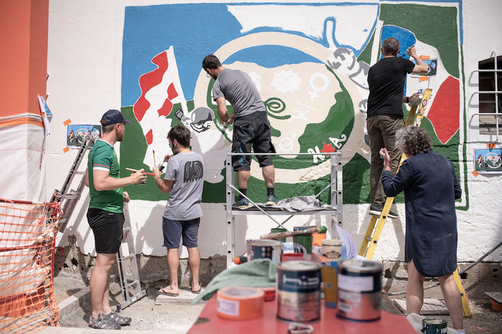
[[[420,12],[429,15],[412,19]],[[458,15],[458,1],[127,7],[122,113],[133,124],[120,146],[127,151],[120,155],[120,164],[151,169],[154,151],[157,156],[171,154],[169,129],[184,124],[192,131],[192,149],[205,160],[203,201],[225,201],[224,167],[232,125],[219,122],[211,96],[214,80],[201,66],[206,55],[214,54],[226,68],[252,77],[266,104],[277,152],[293,154],[274,160],[279,199],[324,189],[330,178],[328,156],[341,150],[344,203],[369,203],[366,75],[381,57],[381,41],[396,37],[400,56],[409,57],[405,50],[415,45],[418,55],[434,59],[435,75],[408,78],[405,94],[433,89],[422,127],[431,135],[435,151],[454,161],[464,180],[458,165],[463,120]],[[454,42],[445,44],[445,36]],[[304,152],[315,155],[294,155]],[[257,163],[251,176],[248,196],[262,198],[265,187]],[[128,192],[133,199],[167,199],[154,182],[132,186]],[[328,203],[329,194],[322,196]]]

